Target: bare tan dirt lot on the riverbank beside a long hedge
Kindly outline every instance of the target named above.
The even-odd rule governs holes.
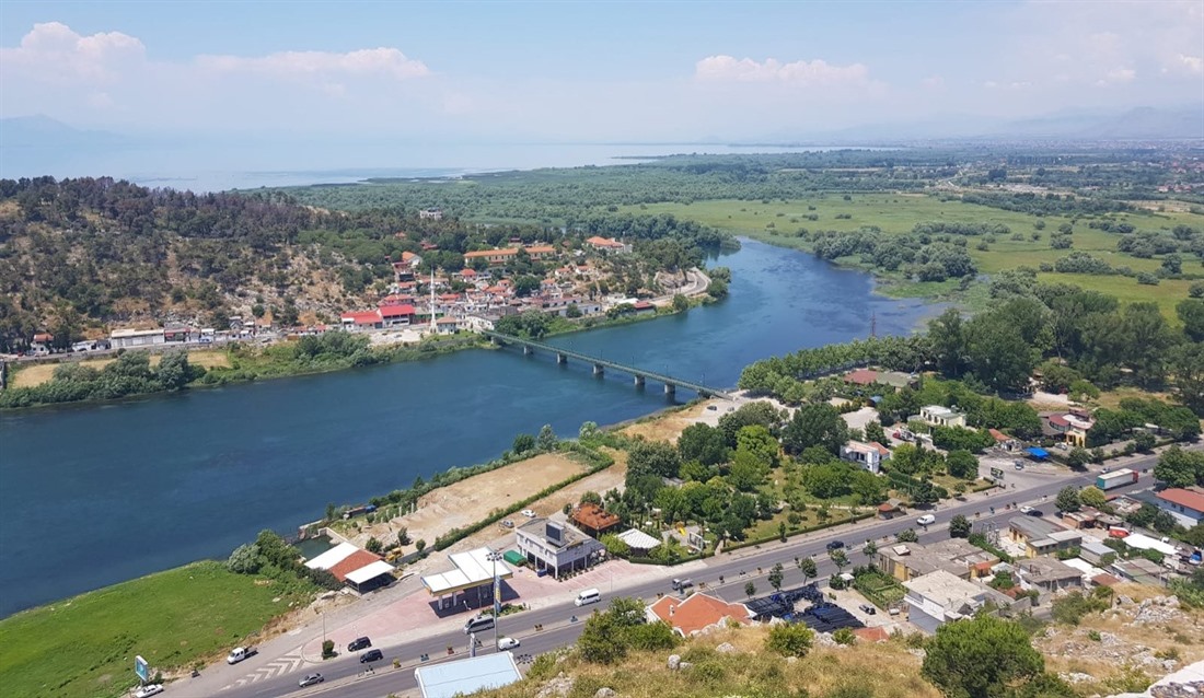
[[[378,521],[370,526],[364,526],[364,521],[360,520],[361,530],[359,532],[354,528],[340,532],[356,545],[362,546],[373,536],[386,544],[393,543],[397,537],[396,531],[405,526],[409,531],[412,540],[423,539],[430,545],[447,531],[480,521],[488,517],[494,509],[504,508],[509,502],[525,499],[550,484],[571,478],[582,472],[584,467],[560,454],[539,455],[427,492],[419,499],[419,508],[413,514],[397,516],[391,521]],[[607,472],[613,469],[609,468]],[[592,478],[586,478],[586,480],[590,479]],[[620,481],[622,481],[621,475]],[[556,497],[561,498],[563,495]],[[538,508],[536,511],[550,513]],[[490,533],[496,536],[496,532]],[[411,552],[413,549],[413,545],[407,545],[406,552]]]

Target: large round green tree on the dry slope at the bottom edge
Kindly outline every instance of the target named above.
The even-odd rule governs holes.
[[[1045,670],[1023,627],[990,615],[944,623],[925,650],[921,674],[952,698],[995,698]]]

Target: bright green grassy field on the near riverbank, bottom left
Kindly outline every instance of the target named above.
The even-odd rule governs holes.
[[[120,696],[150,672],[224,655],[302,591],[197,562],[31,609],[0,621],[0,693],[33,698]],[[273,598],[281,601],[273,602]]]

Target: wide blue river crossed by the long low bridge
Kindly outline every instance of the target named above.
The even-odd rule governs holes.
[[[714,306],[553,343],[733,386],[766,356],[907,333],[932,306],[873,295],[860,272],[754,241],[716,264]],[[680,391],[678,401],[694,395]],[[205,557],[264,528],[291,532],[327,503],[361,503],[520,432],[576,436],[667,404],[661,385],[513,349],[0,415],[0,616]]]

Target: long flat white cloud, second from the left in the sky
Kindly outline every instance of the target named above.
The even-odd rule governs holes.
[[[288,51],[262,57],[201,55],[196,65],[213,72],[258,73],[282,78],[337,76],[385,76],[396,79],[423,77],[430,69],[396,48],[366,48],[348,53]]]

